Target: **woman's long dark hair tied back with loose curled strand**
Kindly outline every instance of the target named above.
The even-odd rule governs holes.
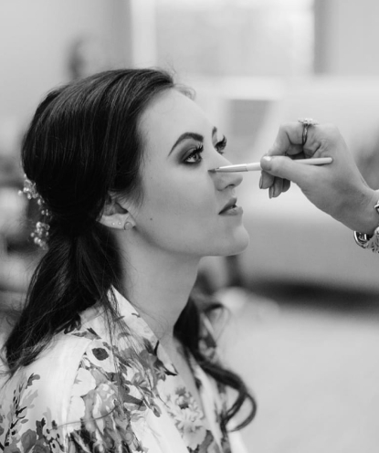
[[[120,289],[120,258],[108,228],[97,220],[110,194],[141,195],[138,121],[153,97],[174,88],[163,70],[118,69],[53,90],[38,106],[25,135],[22,162],[50,213],[48,248],[5,342],[11,375],[35,361],[57,332],[79,325],[80,312],[95,303],[111,320],[118,319],[109,294]],[[254,400],[236,374],[201,353],[201,316],[202,308],[190,299],[175,332],[205,372],[237,390],[225,423],[250,400],[245,426],[254,416]]]

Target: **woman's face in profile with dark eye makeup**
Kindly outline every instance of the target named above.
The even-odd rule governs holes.
[[[234,255],[247,247],[240,174],[211,173],[229,164],[225,138],[205,113],[177,90],[160,94],[142,114],[142,203],[129,208],[135,232],[150,246],[204,256]]]

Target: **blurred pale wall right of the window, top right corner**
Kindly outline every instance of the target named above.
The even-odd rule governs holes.
[[[379,75],[379,2],[315,0],[315,72]]]

